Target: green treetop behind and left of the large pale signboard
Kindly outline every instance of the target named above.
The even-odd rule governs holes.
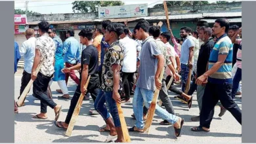
[[[74,1],[72,3],[73,12],[96,12],[97,7],[108,7],[124,5],[122,1]]]

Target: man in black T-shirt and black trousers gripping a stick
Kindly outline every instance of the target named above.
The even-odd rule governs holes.
[[[75,90],[75,94],[70,101],[70,109],[68,110],[68,115],[66,117],[65,122],[55,122],[58,128],[67,129],[68,124],[72,118],[74,113],[75,106],[77,105],[77,101],[81,94],[84,96],[87,92],[91,93],[92,98],[95,100],[98,95],[98,87],[100,86],[99,77],[97,73],[98,69],[98,51],[96,47],[93,45],[92,37],[93,31],[92,29],[82,29],[78,34],[80,37],[80,41],[83,45],[87,45],[87,47],[83,50],[81,54],[81,63],[74,65],[72,67],[66,67],[62,69],[64,73],[69,73],[72,70],[78,70],[81,68],[81,77],[79,79],[79,84]],[[91,75],[91,79],[89,81],[88,87],[85,88],[85,82],[87,81],[88,75]]]

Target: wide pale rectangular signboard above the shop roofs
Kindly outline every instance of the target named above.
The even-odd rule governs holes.
[[[131,18],[140,16],[148,16],[148,4],[98,8],[98,18]]]

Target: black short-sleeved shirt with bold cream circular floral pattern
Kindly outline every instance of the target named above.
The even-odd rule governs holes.
[[[123,66],[123,48],[119,45],[119,41],[115,41],[106,50],[104,61],[102,63],[102,90],[106,92],[112,92],[114,86],[112,65]],[[121,71],[120,71],[121,75]],[[121,77],[120,77],[121,78]],[[119,80],[119,90],[122,90],[122,81]]]

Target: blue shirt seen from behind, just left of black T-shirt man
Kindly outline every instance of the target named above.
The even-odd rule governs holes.
[[[75,39],[75,37],[69,37],[66,39],[63,46],[64,62],[68,62],[70,64],[80,62],[80,51],[80,43]]]

